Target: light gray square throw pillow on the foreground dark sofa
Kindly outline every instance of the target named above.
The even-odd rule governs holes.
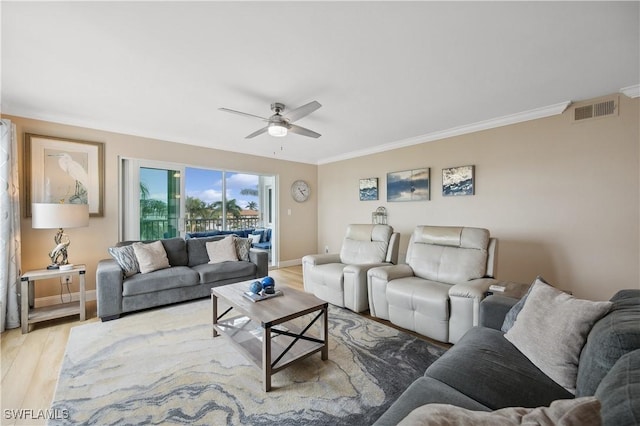
[[[504,335],[553,381],[575,394],[580,351],[611,302],[576,299],[536,281],[513,327]]]

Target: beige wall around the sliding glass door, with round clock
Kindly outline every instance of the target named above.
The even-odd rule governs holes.
[[[100,259],[109,257],[107,248],[118,240],[118,156],[184,163],[196,167],[240,172],[255,172],[278,176],[280,200],[279,243],[281,264],[296,263],[317,245],[317,167],[265,157],[237,154],[191,145],[145,139],[50,122],[5,116],[17,126],[20,157],[21,188],[23,176],[23,138],[25,133],[80,139],[105,144],[105,209],[104,217],[91,218],[88,228],[67,230],[71,239],[69,260],[87,265],[87,289],[95,289],[95,270]],[[305,203],[296,203],[289,196],[289,187],[296,179],[310,183],[312,192]],[[24,209],[24,197],[22,198]],[[289,215],[289,210],[291,214]],[[24,210],[23,210],[24,211]],[[23,214],[24,216],[24,214]],[[39,269],[49,263],[47,253],[53,246],[53,230],[32,229],[31,219],[24,218],[22,230],[22,269]],[[58,295],[60,287],[51,282],[36,289],[36,297]],[[72,291],[77,291],[74,283]]]

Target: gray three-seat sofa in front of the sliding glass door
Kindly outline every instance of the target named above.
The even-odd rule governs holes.
[[[161,240],[171,267],[128,278],[114,259],[101,260],[96,271],[98,317],[107,321],[125,312],[207,297],[212,287],[267,275],[266,252],[251,250],[249,262],[209,264],[206,243],[224,237]]]

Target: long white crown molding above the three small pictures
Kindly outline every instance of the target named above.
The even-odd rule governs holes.
[[[352,158],[362,157],[365,155],[378,154],[380,152],[391,151],[393,149],[404,148],[412,145],[419,145],[421,143],[433,142],[441,139],[451,138],[454,136],[465,135],[468,133],[475,133],[482,130],[495,129],[496,127],[508,126],[510,124],[522,123],[524,121],[537,120],[539,118],[551,117],[553,115],[562,114],[571,105],[571,101],[560,102],[558,104],[549,105],[546,107],[536,108],[529,111],[519,112],[516,114],[505,115],[499,118],[493,118],[490,120],[479,121],[464,126],[454,127],[439,132],[427,133],[425,135],[415,136],[408,139],[402,139],[395,142],[390,142],[384,145],[379,145],[370,149],[363,149],[359,151],[352,151],[344,155],[325,158],[318,161],[318,165],[335,163],[337,161],[349,160]]]

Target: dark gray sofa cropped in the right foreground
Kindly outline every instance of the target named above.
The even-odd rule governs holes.
[[[611,310],[595,323],[580,353],[575,397],[597,397],[605,426],[637,425],[640,290],[622,290],[611,301]],[[504,296],[487,297],[481,303],[481,326],[469,330],[429,366],[375,425],[396,425],[418,407],[434,407],[425,404],[488,412],[505,407],[544,407],[574,398],[503,337],[500,326],[516,302]]]

